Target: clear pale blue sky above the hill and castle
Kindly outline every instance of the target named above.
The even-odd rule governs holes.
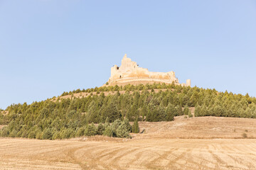
[[[0,0],[0,108],[102,86],[125,53],[256,96],[256,1]]]

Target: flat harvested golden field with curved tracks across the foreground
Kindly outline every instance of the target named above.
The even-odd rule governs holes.
[[[254,169],[256,140],[0,140],[0,169]]]

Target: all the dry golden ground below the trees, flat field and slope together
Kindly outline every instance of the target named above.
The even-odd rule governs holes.
[[[139,124],[145,132],[131,140],[0,138],[0,169],[256,169],[256,120],[178,117]]]

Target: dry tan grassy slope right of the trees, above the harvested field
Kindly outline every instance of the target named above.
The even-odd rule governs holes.
[[[220,117],[175,117],[172,122],[140,122],[139,127],[144,135],[136,137],[160,137],[183,139],[256,138],[256,120],[250,118]]]

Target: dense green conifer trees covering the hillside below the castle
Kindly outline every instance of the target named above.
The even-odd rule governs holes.
[[[100,92],[102,89],[117,93],[105,96]],[[163,90],[156,93],[154,89]],[[118,90],[126,92],[120,94]],[[256,118],[256,98],[215,89],[152,84],[105,86],[91,91],[99,93],[84,98],[11,105],[6,108],[9,114],[0,113],[0,124],[7,125],[0,135],[53,140],[81,135],[129,137],[129,132],[139,132],[139,127],[135,127],[139,120],[155,122],[171,121],[176,115],[192,117],[189,108],[195,106],[196,116]],[[133,128],[128,120],[135,120]]]

